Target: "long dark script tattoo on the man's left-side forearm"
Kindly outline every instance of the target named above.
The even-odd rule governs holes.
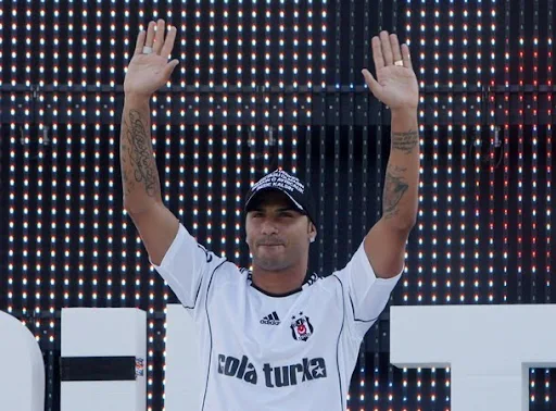
[[[127,158],[130,164],[126,164],[123,155],[124,171],[122,178],[126,184],[126,194],[129,194],[135,184],[142,184],[144,191],[149,197],[160,196],[160,180],[156,172],[152,148],[149,141],[149,134],[146,129],[146,122],[141,113],[131,110],[127,120],[124,120],[127,128],[126,140],[128,144],[122,145],[122,150],[127,151]],[[129,165],[129,169],[126,167]]]

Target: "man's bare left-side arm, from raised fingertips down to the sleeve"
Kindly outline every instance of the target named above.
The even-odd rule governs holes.
[[[164,21],[149,24],[137,38],[136,50],[124,83],[125,103],[122,114],[121,166],[124,207],[149,253],[160,264],[178,232],[178,220],[163,204],[161,184],[150,136],[149,100],[172,74],[177,61],[168,62],[176,29],[164,39]],[[143,46],[152,53],[143,53]]]

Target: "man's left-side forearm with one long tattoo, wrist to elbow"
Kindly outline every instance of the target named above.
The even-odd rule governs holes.
[[[119,160],[124,207],[130,214],[162,203],[149,111],[148,98],[126,96],[122,114]]]

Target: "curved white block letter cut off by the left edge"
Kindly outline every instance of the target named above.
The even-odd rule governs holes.
[[[45,410],[45,362],[29,329],[0,311],[0,409]]]

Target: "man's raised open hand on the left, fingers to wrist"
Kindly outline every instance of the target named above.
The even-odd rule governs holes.
[[[165,23],[159,20],[156,24],[150,22],[147,33],[141,30],[137,36],[134,57],[124,80],[124,92],[127,96],[150,98],[168,80],[178,65],[178,60],[168,62],[176,40],[176,27],[170,27],[167,36],[164,35]],[[152,48],[152,52],[144,53],[143,47]]]

